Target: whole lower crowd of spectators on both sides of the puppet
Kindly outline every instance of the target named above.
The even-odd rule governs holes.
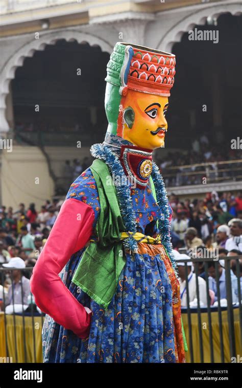
[[[219,249],[220,299],[226,301],[226,278],[222,257],[242,255],[242,192],[207,193],[203,199],[180,200],[174,194],[169,198],[173,209],[171,236],[176,259],[190,259],[191,252],[200,249],[199,290],[201,307],[207,305],[204,252]],[[17,210],[11,207],[0,209],[0,308],[12,313],[34,306],[30,292],[31,271],[55,223],[63,201],[46,200],[39,211],[34,203],[26,209],[20,203]],[[186,254],[180,254],[184,249]],[[201,250],[202,249],[202,250]],[[180,251],[181,252],[181,251]],[[238,302],[238,282],[235,260],[230,260],[233,302]],[[14,268],[14,269],[12,269]],[[188,261],[188,287],[190,307],[197,306],[196,276],[193,265]],[[242,260],[239,261],[240,285]],[[182,307],[186,307],[186,279],[184,263],[178,263]],[[208,263],[209,298],[211,305],[217,303],[214,262]],[[4,303],[5,302],[5,303]],[[36,306],[35,306],[36,308]]]

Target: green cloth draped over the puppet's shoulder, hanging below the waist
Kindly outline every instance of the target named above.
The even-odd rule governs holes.
[[[100,159],[95,159],[90,169],[99,192],[100,214],[95,228],[99,241],[90,241],[72,282],[107,309],[126,262],[120,240],[121,233],[126,230],[115,187],[110,185],[111,179],[107,179],[110,177],[108,166]]]

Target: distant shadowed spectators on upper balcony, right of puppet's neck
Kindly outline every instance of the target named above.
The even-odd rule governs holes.
[[[242,160],[241,149],[231,149],[228,142],[211,144],[208,136],[203,134],[191,142],[189,150],[184,150],[183,154],[180,150],[169,152],[158,161],[158,165],[165,177],[166,187],[175,187],[202,184],[204,177],[207,182],[241,179],[241,162],[233,162],[238,160]],[[225,161],[231,163],[218,163]],[[205,166],[205,163],[208,164]]]

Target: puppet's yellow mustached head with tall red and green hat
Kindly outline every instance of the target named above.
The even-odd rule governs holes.
[[[140,148],[164,147],[175,56],[128,43],[116,43],[107,66],[107,134]]]

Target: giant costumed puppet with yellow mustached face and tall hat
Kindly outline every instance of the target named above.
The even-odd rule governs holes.
[[[164,147],[175,55],[116,43],[105,141],[70,186],[34,267],[44,362],[185,362]],[[59,276],[60,275],[60,276]]]

